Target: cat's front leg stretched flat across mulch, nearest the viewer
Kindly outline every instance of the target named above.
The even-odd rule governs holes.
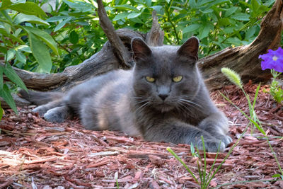
[[[149,141],[173,142],[175,144],[193,144],[198,149],[204,147],[207,151],[224,151],[226,144],[216,139],[209,132],[177,120],[160,120],[144,128],[144,139]]]

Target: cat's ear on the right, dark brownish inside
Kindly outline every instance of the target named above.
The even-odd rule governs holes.
[[[200,41],[192,37],[188,39],[178,50],[178,55],[181,57],[193,57],[196,60],[198,59],[197,57],[197,52],[199,51],[199,44]]]

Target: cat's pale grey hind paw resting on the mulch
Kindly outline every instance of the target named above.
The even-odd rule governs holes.
[[[45,113],[44,118],[48,122],[64,122],[71,117],[71,112],[67,105],[52,108]]]

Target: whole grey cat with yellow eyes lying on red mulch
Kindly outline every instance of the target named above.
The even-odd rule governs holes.
[[[67,93],[25,91],[33,111],[50,122],[79,115],[88,130],[119,130],[148,141],[193,144],[224,151],[229,123],[209,98],[197,68],[199,40],[149,47],[132,39],[131,70],[115,70],[75,86]],[[46,104],[45,104],[46,103]]]

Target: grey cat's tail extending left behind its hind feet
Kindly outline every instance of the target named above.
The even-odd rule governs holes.
[[[27,92],[21,89],[18,92],[18,96],[20,96],[21,98],[24,98],[25,100],[35,105],[43,105],[43,104],[50,103],[52,101],[59,100],[60,98],[63,98],[64,93],[40,92],[40,91],[31,91],[31,90],[28,90]]]

